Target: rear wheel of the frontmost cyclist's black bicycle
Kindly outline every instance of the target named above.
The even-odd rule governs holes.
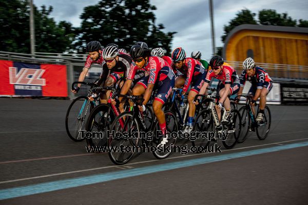
[[[167,146],[170,146],[170,147],[168,148],[168,150],[166,150],[166,152],[163,152],[163,150],[157,150],[155,152],[152,152],[153,155],[158,159],[165,159],[171,154],[171,152],[174,149],[174,146],[176,145],[177,137],[178,137],[178,121],[174,113],[172,113],[171,111],[165,111],[165,118],[166,118],[167,132],[169,132],[170,135],[169,135],[168,142],[165,144],[164,147],[165,148],[167,148]],[[159,127],[158,121],[156,120],[155,127],[153,130],[153,141],[152,141],[152,145],[156,147],[160,144],[160,142],[163,139],[162,136],[156,135],[157,130],[160,130],[160,127]]]

